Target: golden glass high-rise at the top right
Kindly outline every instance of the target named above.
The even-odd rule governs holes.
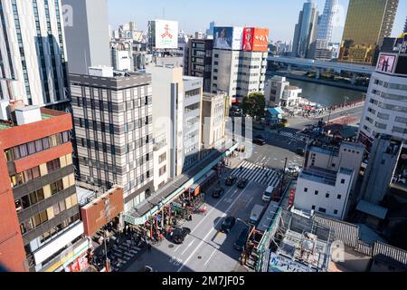
[[[350,0],[339,61],[374,63],[383,38],[392,34],[398,4],[399,0]]]

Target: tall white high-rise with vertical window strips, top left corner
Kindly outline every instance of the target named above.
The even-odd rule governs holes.
[[[62,21],[61,0],[0,2],[0,99],[64,108],[69,94]]]

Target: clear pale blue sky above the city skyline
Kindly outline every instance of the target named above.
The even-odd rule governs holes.
[[[108,0],[109,22],[113,27],[134,21],[137,29],[146,30],[152,19],[176,20],[179,27],[192,34],[205,31],[211,21],[218,25],[248,25],[270,29],[273,41],[289,42],[294,34],[298,13],[305,0]],[[339,42],[348,0],[339,0],[339,14],[334,29],[334,41]],[[316,0],[322,13],[325,0]],[[400,0],[393,27],[393,36],[402,32],[407,16],[407,0]]]

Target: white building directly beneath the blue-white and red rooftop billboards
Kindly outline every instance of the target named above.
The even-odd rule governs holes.
[[[264,92],[268,52],[213,49],[212,92],[240,99]]]

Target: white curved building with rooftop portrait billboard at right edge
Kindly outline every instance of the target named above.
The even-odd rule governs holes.
[[[368,149],[378,134],[407,140],[406,43],[394,39],[393,50],[380,53],[372,75],[359,132]]]

